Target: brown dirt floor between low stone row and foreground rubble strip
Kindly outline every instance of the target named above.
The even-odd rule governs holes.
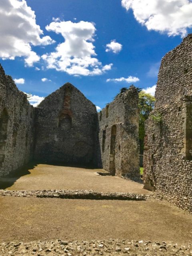
[[[0,242],[192,241],[192,215],[164,201],[0,197]]]

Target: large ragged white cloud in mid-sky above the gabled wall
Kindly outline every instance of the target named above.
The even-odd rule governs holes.
[[[112,68],[112,64],[103,66],[96,58],[93,44],[96,28],[93,23],[54,19],[46,30],[62,34],[64,38],[55,52],[42,55],[47,68],[82,76],[100,75]]]

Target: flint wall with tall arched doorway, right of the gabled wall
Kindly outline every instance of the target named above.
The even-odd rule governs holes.
[[[98,114],[102,163],[111,174],[139,178],[138,91],[130,86]]]

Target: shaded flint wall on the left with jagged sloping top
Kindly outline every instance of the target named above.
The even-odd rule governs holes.
[[[27,163],[33,146],[34,110],[0,65],[0,176]]]

